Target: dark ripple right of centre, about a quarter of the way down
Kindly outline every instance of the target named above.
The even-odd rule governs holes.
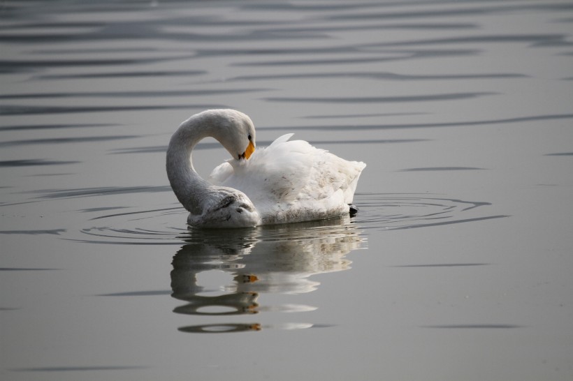
[[[427,96],[370,96],[347,98],[319,97],[269,97],[263,98],[270,102],[300,102],[300,103],[402,103],[402,102],[431,102],[438,100],[460,100],[478,98],[481,96],[498,95],[498,93],[453,93],[430,94]]]

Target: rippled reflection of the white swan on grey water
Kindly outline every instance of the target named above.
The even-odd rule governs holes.
[[[259,322],[213,322],[221,316],[263,311],[303,312],[312,306],[259,305],[261,294],[300,294],[317,289],[310,276],[349,269],[345,255],[361,247],[363,237],[347,216],[326,221],[235,230],[190,230],[173,257],[173,297],[187,304],[175,313],[210,318],[185,332],[258,331],[264,327],[300,329],[307,323],[263,326]],[[216,289],[201,285],[201,273],[223,271],[229,279]],[[203,274],[204,275],[204,274]],[[218,278],[218,277],[215,277]]]

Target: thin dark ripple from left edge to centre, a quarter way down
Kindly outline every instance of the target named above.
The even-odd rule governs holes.
[[[171,91],[90,91],[68,93],[35,93],[0,95],[0,99],[35,99],[35,98],[159,98],[175,96],[210,96],[219,94],[242,94],[268,89],[204,89],[204,90],[171,90]]]

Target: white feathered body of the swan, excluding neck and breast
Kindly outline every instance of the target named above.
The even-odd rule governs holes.
[[[242,191],[263,224],[328,218],[347,213],[364,163],[347,161],[303,140],[279,137],[249,160],[213,170],[213,184]]]

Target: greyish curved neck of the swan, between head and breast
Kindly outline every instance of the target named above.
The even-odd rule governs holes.
[[[191,151],[200,140],[212,135],[210,124],[187,120],[175,131],[167,149],[166,168],[171,188],[191,214],[202,213],[203,200],[208,198],[208,188],[212,186],[195,171]]]

